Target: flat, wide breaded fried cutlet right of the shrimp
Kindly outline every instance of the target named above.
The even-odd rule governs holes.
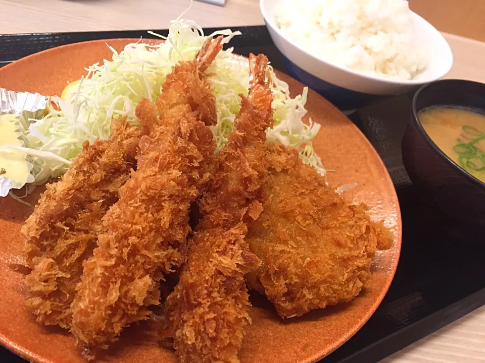
[[[377,249],[393,236],[304,165],[296,150],[272,145],[263,212],[249,225],[251,251],[261,267],[248,285],[266,294],[283,318],[350,301],[371,283]]]

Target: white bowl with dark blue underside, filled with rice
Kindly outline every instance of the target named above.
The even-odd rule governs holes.
[[[260,0],[289,73],[342,110],[445,76],[453,54],[406,0]]]

